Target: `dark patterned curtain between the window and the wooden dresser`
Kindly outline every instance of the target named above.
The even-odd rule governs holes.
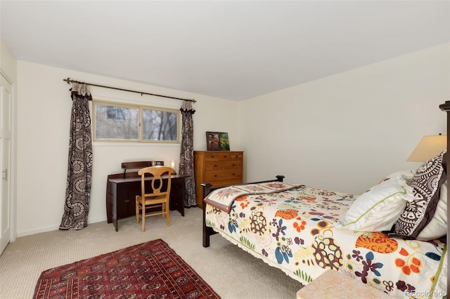
[[[195,110],[191,101],[185,100],[181,106],[181,150],[180,150],[180,175],[184,175],[184,206],[196,206],[195,178],[194,178],[194,124],[192,115]]]

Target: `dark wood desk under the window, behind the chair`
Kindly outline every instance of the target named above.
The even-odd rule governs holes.
[[[162,181],[167,185],[167,175],[162,176]],[[150,184],[148,185],[150,188]],[[167,187],[163,185],[162,190],[165,188]],[[141,194],[141,176],[137,172],[108,175],[106,215],[108,223],[114,223],[116,232],[119,230],[117,220],[136,217],[136,195],[138,194]],[[184,177],[181,175],[172,175],[169,208],[170,211],[179,211],[184,216]]]

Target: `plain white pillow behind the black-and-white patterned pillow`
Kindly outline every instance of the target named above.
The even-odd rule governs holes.
[[[437,201],[435,215],[430,223],[418,234],[418,240],[428,241],[439,239],[447,233],[447,181],[440,188],[439,201]]]

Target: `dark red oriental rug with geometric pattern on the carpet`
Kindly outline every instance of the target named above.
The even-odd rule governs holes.
[[[162,239],[41,273],[34,298],[220,298]]]

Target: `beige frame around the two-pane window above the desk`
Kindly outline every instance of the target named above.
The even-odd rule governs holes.
[[[96,135],[96,105],[106,107],[121,107],[138,109],[138,139],[98,139]],[[162,112],[172,112],[176,114],[176,140],[144,140],[143,139],[143,110],[156,110]],[[179,109],[155,107],[147,105],[129,104],[126,102],[112,102],[108,100],[92,100],[92,140],[94,142],[131,142],[131,143],[181,143],[181,111]]]

